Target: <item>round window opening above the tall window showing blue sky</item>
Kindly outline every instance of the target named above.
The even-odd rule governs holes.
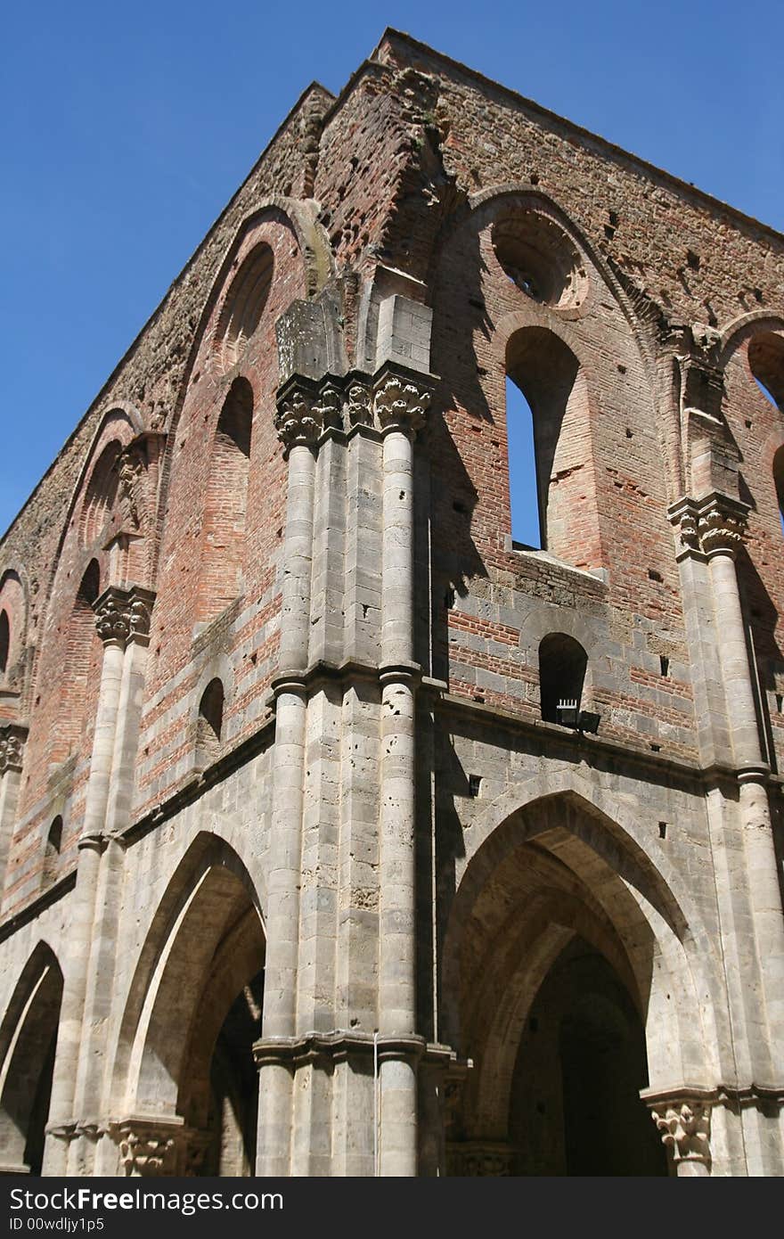
[[[492,239],[507,278],[526,297],[549,306],[582,301],[587,280],[580,255],[550,219],[533,212],[499,219]]]

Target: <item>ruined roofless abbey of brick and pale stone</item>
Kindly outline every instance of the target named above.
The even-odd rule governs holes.
[[[783,1175],[783,507],[784,237],[308,88],[0,543],[2,1173]]]

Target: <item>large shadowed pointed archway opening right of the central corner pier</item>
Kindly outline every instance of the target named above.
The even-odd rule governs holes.
[[[679,917],[649,861],[571,795],[488,836],[443,948],[442,1040],[473,1063],[447,1108],[447,1173],[668,1173],[640,1090],[677,1070],[682,1004],[658,934],[671,952]]]

